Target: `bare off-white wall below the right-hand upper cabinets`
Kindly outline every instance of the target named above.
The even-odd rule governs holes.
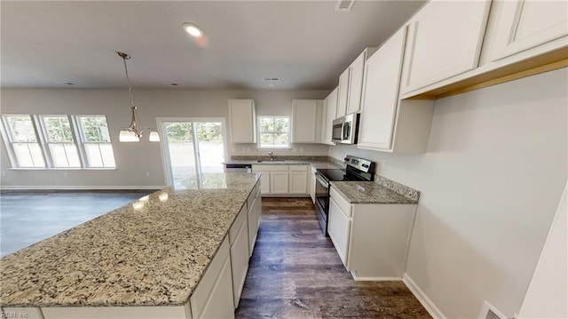
[[[406,273],[447,318],[477,317],[483,300],[521,307],[566,182],[567,77],[437,100],[425,154],[330,148],[422,192]]]

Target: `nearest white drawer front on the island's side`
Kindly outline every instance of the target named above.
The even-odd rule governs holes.
[[[225,261],[229,257],[229,240],[225,237],[225,240],[219,247],[219,250],[215,254],[215,257],[209,263],[209,267],[203,277],[201,277],[201,282],[193,291],[192,297],[189,299],[192,308],[192,315],[195,318],[201,318],[202,312],[207,305],[209,296],[217,283],[217,279],[225,266]],[[231,300],[233,301],[233,300]],[[233,304],[233,302],[231,302]],[[233,306],[233,305],[232,305]]]

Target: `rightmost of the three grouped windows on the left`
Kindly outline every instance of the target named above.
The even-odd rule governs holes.
[[[77,116],[87,167],[115,167],[105,116]]]

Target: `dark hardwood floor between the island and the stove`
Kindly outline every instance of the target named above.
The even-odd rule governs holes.
[[[356,282],[309,198],[263,198],[237,318],[431,318],[402,282]]]

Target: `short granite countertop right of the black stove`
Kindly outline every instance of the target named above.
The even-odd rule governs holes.
[[[350,203],[418,203],[374,181],[332,181],[331,185]]]

